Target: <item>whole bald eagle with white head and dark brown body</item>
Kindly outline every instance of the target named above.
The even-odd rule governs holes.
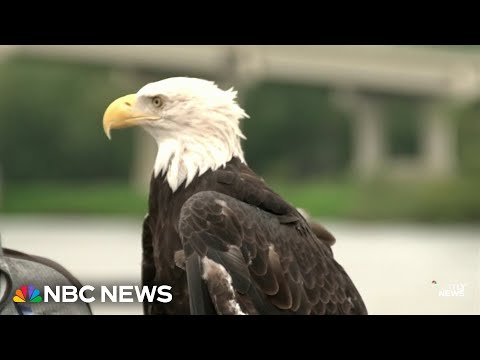
[[[113,101],[103,127],[141,126],[158,145],[142,231],[142,283],[170,285],[145,314],[367,314],[314,232],[247,165],[237,92],[174,77]],[[323,239],[322,239],[323,238]]]

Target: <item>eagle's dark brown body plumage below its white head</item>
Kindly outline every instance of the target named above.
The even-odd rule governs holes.
[[[172,286],[173,301],[146,303],[147,314],[216,313],[202,279],[205,256],[228,271],[244,313],[367,313],[328,245],[238,159],[175,193],[161,176],[150,189],[142,280]],[[181,251],[192,265],[186,270],[174,261]]]

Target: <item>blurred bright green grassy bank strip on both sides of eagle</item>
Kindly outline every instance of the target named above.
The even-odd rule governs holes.
[[[356,183],[352,181],[269,182],[292,204],[315,217],[368,221],[478,223],[478,182]],[[4,194],[4,211],[14,214],[131,215],[142,218],[147,194],[127,183],[17,183]]]

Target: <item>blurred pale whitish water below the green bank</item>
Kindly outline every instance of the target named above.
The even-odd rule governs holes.
[[[142,220],[2,215],[0,232],[5,247],[58,261],[84,284],[135,285]],[[322,222],[370,314],[480,314],[480,227]],[[464,284],[464,296],[439,296],[450,284]],[[91,307],[142,313],[138,303]]]

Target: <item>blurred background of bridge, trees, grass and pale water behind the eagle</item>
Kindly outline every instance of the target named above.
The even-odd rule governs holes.
[[[370,313],[480,314],[476,45],[0,46],[4,246],[139,282],[155,144],[102,116],[170,76],[239,91],[248,164],[336,236]]]

